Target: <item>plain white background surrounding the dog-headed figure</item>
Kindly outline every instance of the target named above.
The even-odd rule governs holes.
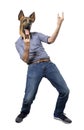
[[[57,14],[64,12],[60,33],[52,45],[43,44],[58,66],[70,89],[65,113],[72,119],[67,125],[53,118],[58,93],[43,79],[32,104],[31,113],[21,124],[15,123],[25,90],[27,65],[15,48],[19,37],[18,13],[33,11],[36,21],[32,31],[52,35]],[[83,0],[3,0],[0,2],[0,129],[73,130],[84,124],[84,6]]]

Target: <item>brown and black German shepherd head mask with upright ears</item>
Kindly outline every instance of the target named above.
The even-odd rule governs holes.
[[[32,23],[35,21],[35,12],[33,12],[29,17],[25,17],[23,11],[21,10],[18,14],[18,20],[20,20],[19,33],[21,37],[25,37],[25,29],[30,31]]]

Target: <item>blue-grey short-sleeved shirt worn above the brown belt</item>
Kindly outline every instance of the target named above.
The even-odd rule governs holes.
[[[32,32],[30,34],[30,48],[29,48],[29,62],[34,62],[39,59],[49,58],[45,49],[42,46],[42,42],[48,43],[49,36],[46,36],[42,33]],[[24,53],[24,41],[22,37],[15,43],[16,49],[22,59]]]

